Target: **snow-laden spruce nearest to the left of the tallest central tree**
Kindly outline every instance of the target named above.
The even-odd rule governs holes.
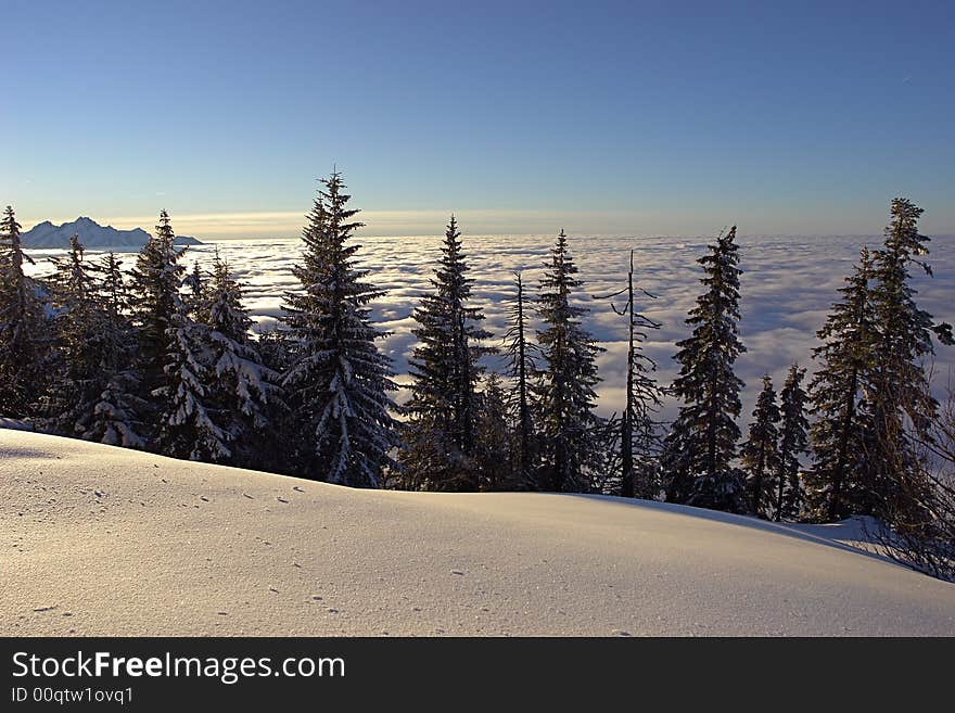
[[[242,304],[242,288],[216,251],[213,272],[199,293],[196,314],[208,330],[208,373],[205,403],[211,418],[226,434],[229,456],[216,462],[270,470],[278,444],[270,416],[280,406],[280,374],[263,364],[250,340],[252,319]]]

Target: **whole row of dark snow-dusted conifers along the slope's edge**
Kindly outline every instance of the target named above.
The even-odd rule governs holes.
[[[529,285],[514,276],[507,332],[493,335],[471,294],[454,218],[413,311],[409,396],[398,406],[383,295],[356,267],[361,227],[340,174],[322,181],[293,268],[280,327],[254,335],[226,260],[186,275],[168,216],[124,272],[85,257],[77,239],[48,279],[23,265],[21,227],[0,226],[0,416],[38,430],[177,458],[360,487],[603,493],[774,520],[871,514],[897,526],[937,518],[922,447],[939,404],[925,361],[951,328],[920,309],[921,209],[891,205],[878,250],[863,251],[814,349],[815,375],[768,375],[746,437],[736,228],[698,262],[701,293],[677,343],[679,374],[660,384],[644,351],[660,324],[653,295],[628,279],[599,295],[627,333],[619,415],[595,412],[602,352],[587,331],[584,283],[563,231]],[[491,358],[488,358],[491,357]],[[487,364],[506,366],[501,373]],[[665,399],[679,408],[672,423]],[[928,441],[927,441],[928,440]]]

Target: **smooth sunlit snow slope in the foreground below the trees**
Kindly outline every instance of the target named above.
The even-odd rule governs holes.
[[[819,531],[0,430],[0,634],[955,635],[955,586]]]

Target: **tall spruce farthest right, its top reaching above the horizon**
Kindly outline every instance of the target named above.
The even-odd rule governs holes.
[[[928,517],[920,504],[930,485],[916,441],[938,410],[922,364],[933,353],[932,316],[916,305],[909,273],[917,265],[931,275],[922,258],[929,239],[918,232],[921,213],[907,199],[894,199],[884,244],[873,260],[873,317],[879,332],[868,394],[874,514],[900,526]]]

